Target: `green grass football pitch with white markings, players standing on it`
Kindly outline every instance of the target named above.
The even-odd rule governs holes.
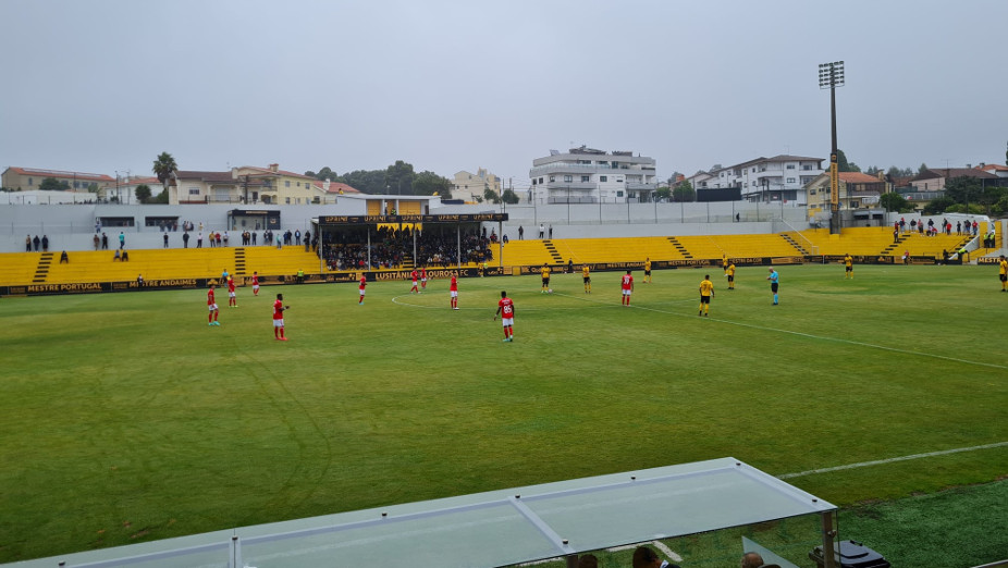
[[[635,271],[630,307],[622,272],[457,311],[445,280],[219,289],[219,328],[205,289],[4,298],[0,561],[725,456],[841,506],[1008,473],[996,268],[777,270],[779,306],[766,268]]]

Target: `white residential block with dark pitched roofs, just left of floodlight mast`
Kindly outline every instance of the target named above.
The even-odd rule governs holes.
[[[688,180],[697,193],[737,187],[745,201],[808,205],[806,186],[821,175],[825,158],[775,156],[757,158],[727,168],[698,172]]]

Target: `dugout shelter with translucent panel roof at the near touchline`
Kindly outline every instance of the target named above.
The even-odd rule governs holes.
[[[724,531],[687,560],[736,565],[754,548],[780,566],[833,550],[836,507],[726,457],[19,563],[22,568],[509,567]],[[733,542],[732,550],[724,543]],[[743,551],[743,547],[746,548]],[[672,552],[672,551],[669,551]],[[619,553],[617,553],[619,554]],[[627,553],[623,553],[627,554]],[[704,557],[701,557],[705,554]],[[555,564],[554,564],[555,565]],[[835,568],[827,555],[826,568]]]

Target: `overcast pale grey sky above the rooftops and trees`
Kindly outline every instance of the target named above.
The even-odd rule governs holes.
[[[835,14],[831,13],[835,10]],[[0,0],[0,169],[1004,163],[1008,1]]]

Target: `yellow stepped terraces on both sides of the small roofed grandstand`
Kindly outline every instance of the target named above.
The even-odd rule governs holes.
[[[986,231],[983,223],[981,234]],[[901,233],[894,243],[888,227],[848,227],[840,235],[826,229],[801,232],[746,235],[653,236],[618,238],[565,238],[549,240],[511,240],[504,245],[503,264],[551,266],[603,262],[643,262],[668,260],[715,260],[728,258],[784,257],[802,255],[892,256],[901,257],[909,250],[913,257],[942,258],[943,250],[954,256],[972,239],[967,235],[929,237],[918,233]],[[981,239],[982,240],[982,239]],[[997,247],[980,248],[971,259],[997,254],[1005,244],[997,234]],[[496,245],[492,246],[496,255]],[[130,282],[143,274],[145,280],[205,279],[219,276],[226,269],[237,276],[293,275],[298,270],[319,272],[319,259],[304,247],[272,246],[173,248],[130,250],[130,261],[113,260],[113,250],[72,251],[70,261],[60,263],[59,251],[0,254],[0,285],[70,284],[90,282]],[[496,264],[496,259],[491,261]],[[466,267],[475,267],[467,262]]]

